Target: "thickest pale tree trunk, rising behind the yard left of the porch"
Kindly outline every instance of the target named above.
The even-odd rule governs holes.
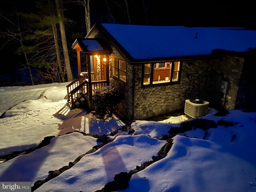
[[[62,3],[62,0],[55,0],[55,3],[56,3],[56,9],[57,9],[57,14],[59,18],[59,24],[60,24],[60,35],[61,35],[62,48],[63,48],[68,81],[72,81],[73,75],[72,75],[69,56],[68,56],[68,46],[67,46],[67,40],[66,40],[66,31],[65,31],[64,15],[63,15],[63,3]]]

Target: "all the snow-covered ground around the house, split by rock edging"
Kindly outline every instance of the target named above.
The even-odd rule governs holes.
[[[0,164],[0,182],[31,181],[33,185],[46,178],[48,171],[68,165],[100,144],[96,138],[67,132],[102,135],[124,125],[115,117],[97,120],[85,110],[69,110],[64,99],[66,84],[0,87],[0,156],[37,146],[46,136],[60,135],[47,146]],[[168,155],[133,174],[129,187],[122,191],[256,192],[256,113],[231,110],[220,117],[215,112],[210,109],[202,118],[216,123],[225,120],[234,126],[210,128],[206,137],[199,128],[175,136]],[[36,191],[100,190],[115,174],[152,160],[166,143],[154,137],[168,134],[185,120],[180,116],[162,122],[136,121],[128,129],[134,130],[132,134],[119,131],[112,142],[85,155]]]

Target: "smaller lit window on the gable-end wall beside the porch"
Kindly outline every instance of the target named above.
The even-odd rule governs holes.
[[[112,77],[118,78],[121,81],[126,82],[126,61],[112,57],[111,58],[111,65],[112,65]]]

